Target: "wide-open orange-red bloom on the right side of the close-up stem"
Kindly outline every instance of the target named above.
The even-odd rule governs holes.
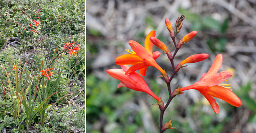
[[[232,90],[229,90],[231,87],[224,87],[230,86],[230,84],[220,84],[232,76],[232,72],[230,71],[223,71],[217,74],[221,65],[222,54],[218,54],[209,71],[202,74],[200,81],[190,86],[180,88],[179,91],[181,92],[189,89],[198,90],[210,102],[215,113],[219,113],[219,105],[213,97],[222,99],[233,106],[239,107],[241,105],[241,100],[232,92]]]

